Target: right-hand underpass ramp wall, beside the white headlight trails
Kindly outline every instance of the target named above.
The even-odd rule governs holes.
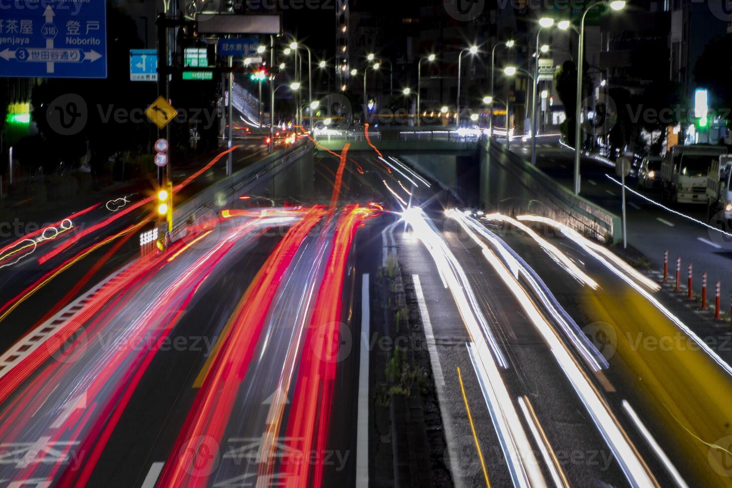
[[[514,195],[501,195],[507,198],[490,201],[490,206],[509,214],[521,212],[550,217],[595,239],[613,242],[622,239],[620,217],[616,214],[575,195],[495,139],[484,137],[479,145],[481,165],[500,165],[509,173],[504,187],[509,183],[519,184],[526,196],[521,198],[515,188],[507,189],[506,192]],[[488,174],[493,175],[492,170]],[[490,190],[487,193],[490,198]]]

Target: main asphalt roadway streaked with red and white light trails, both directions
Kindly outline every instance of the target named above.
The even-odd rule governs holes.
[[[29,337],[0,369],[0,478],[362,481],[362,284],[397,252],[456,486],[727,484],[708,443],[732,435],[729,367],[638,275],[542,223],[553,247],[517,222],[446,213],[452,198],[398,156],[313,168],[310,194],[271,195],[302,207],[232,209],[165,254],[119,257]]]

